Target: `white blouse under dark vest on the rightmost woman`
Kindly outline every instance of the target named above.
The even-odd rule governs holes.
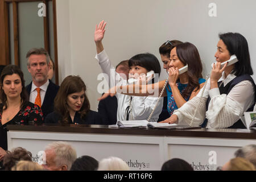
[[[219,81],[222,81],[221,84],[226,86],[235,77],[231,73],[225,77],[223,72]],[[179,125],[189,125],[195,114],[193,126],[201,125],[207,118],[207,128],[226,128],[236,123],[243,113],[254,104],[255,90],[253,84],[248,80],[235,85],[226,95],[220,94],[218,88],[210,89],[209,79],[203,95],[202,92],[203,88],[196,97],[174,111],[174,114],[179,118]],[[206,111],[206,102],[209,96],[211,100]]]

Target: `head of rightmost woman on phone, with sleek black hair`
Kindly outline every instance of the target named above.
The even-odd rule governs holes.
[[[229,60],[230,56],[236,55],[238,62],[234,64],[234,75],[253,75],[251,68],[250,53],[247,40],[239,33],[228,32],[219,34],[220,41],[217,44],[215,53],[216,61],[221,63]]]

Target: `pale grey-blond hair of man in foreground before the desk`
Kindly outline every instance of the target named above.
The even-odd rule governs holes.
[[[48,144],[46,150],[53,150],[55,152],[56,166],[67,165],[69,170],[76,160],[76,150],[67,142],[53,142]]]

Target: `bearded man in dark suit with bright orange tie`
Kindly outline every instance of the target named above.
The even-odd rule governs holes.
[[[54,98],[59,90],[59,86],[48,79],[49,54],[44,48],[32,48],[26,57],[27,69],[32,77],[31,83],[26,86],[29,101],[39,105],[46,118],[54,109]]]

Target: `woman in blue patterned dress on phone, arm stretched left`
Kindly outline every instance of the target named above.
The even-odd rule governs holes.
[[[179,74],[179,69],[188,66],[188,70],[184,73]],[[170,53],[170,64],[169,64],[169,77],[168,85],[163,92],[162,97],[167,96],[168,105],[167,109],[170,115],[177,108],[183,106],[188,100],[191,100],[199,92],[200,88],[204,86],[205,80],[202,78],[202,63],[200,59],[199,52],[191,43],[181,43],[176,47],[171,49]],[[156,84],[148,85],[149,88],[158,89],[159,93],[162,91],[165,80],[160,81]],[[132,96],[150,96],[146,86],[139,86],[140,93],[129,93],[128,91],[133,90],[133,85],[121,86],[122,90],[127,91],[122,92],[123,94],[132,95]],[[110,90],[110,92],[115,92],[115,88]],[[112,93],[113,93],[112,92]],[[104,94],[100,98],[104,99],[108,95],[114,95],[110,93]],[[164,122],[168,122],[167,118]]]

